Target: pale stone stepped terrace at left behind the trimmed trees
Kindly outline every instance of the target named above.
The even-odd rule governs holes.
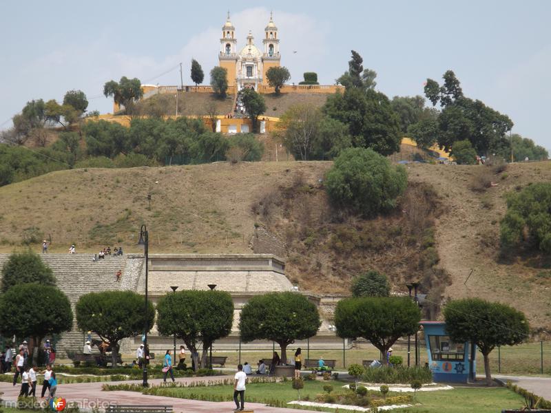
[[[127,274],[126,257],[107,257],[105,260],[92,262],[90,254],[41,254],[43,262],[52,268],[59,289],[67,295],[71,302],[74,315],[74,306],[81,295],[105,291],[134,289],[136,275]],[[0,254],[0,267],[10,257],[9,254]],[[123,277],[116,281],[116,273],[121,270]],[[130,278],[130,279],[129,279]],[[81,351],[84,333],[76,327],[74,315],[73,329],[61,335],[57,350],[63,355],[67,350]]]

